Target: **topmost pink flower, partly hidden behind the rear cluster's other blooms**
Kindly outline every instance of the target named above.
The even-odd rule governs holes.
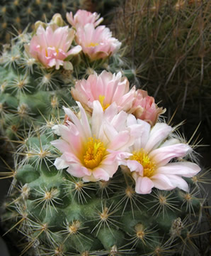
[[[85,26],[87,23],[93,23],[93,26],[98,26],[102,21],[103,18],[99,18],[100,14],[96,12],[91,13],[90,11],[79,10],[73,16],[72,11],[66,14],[67,21],[74,26],[74,28],[79,28],[79,26]]]

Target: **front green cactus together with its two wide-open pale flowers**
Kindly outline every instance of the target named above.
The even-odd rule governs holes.
[[[116,114],[114,104],[103,112],[94,101],[92,117],[79,108],[64,108],[55,134],[47,124],[40,127],[16,154],[1,218],[8,234],[23,236],[21,255],[208,255],[208,227],[200,230],[207,221],[205,179],[190,162],[191,147],[166,123],[132,122],[131,114]],[[135,152],[134,140],[151,153]],[[166,155],[173,162],[166,164]]]

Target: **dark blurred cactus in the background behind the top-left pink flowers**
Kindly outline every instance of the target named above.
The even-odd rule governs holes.
[[[13,34],[22,33],[26,26],[33,29],[34,21],[50,21],[53,14],[59,12],[65,16],[67,11],[86,9],[106,14],[110,8],[118,6],[114,0],[2,0],[0,4],[0,41],[9,43]],[[11,15],[12,14],[12,15]]]

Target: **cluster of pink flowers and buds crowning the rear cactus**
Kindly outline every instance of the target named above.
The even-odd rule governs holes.
[[[93,61],[108,58],[119,50],[121,43],[112,37],[109,28],[98,26],[103,21],[98,14],[79,10],[74,16],[72,12],[67,13],[67,21],[72,28],[64,26],[59,14],[55,14],[49,24],[38,21],[35,35],[25,45],[27,53],[46,68],[58,70],[63,66],[72,70],[69,60],[80,52]],[[73,46],[74,41],[77,46]]]

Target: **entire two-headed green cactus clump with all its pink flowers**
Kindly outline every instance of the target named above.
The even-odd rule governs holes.
[[[120,42],[98,18],[69,14],[69,32],[57,14],[4,46],[1,132],[18,145],[2,174],[13,178],[1,206],[6,235],[21,238],[21,255],[206,255],[196,145],[159,117],[153,97],[130,88],[137,80]],[[64,42],[43,46],[39,36],[55,31]],[[81,43],[84,33],[100,36]],[[97,41],[105,35],[110,45]]]

